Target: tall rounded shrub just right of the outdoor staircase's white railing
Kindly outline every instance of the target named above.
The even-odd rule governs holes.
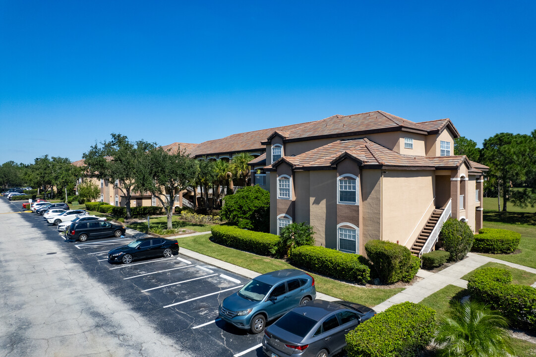
[[[473,247],[474,235],[466,222],[449,218],[441,228],[440,240],[443,241],[443,249],[450,253],[449,261],[457,262]]]

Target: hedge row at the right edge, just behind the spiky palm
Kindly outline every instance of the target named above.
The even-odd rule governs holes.
[[[536,288],[510,284],[511,281],[508,270],[486,267],[474,272],[467,289],[472,298],[510,318],[513,327],[536,330]]]

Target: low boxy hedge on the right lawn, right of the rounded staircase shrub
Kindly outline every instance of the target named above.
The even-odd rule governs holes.
[[[508,229],[482,228],[475,234],[473,251],[504,254],[516,251],[521,234]]]

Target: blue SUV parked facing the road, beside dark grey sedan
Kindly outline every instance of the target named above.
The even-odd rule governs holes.
[[[227,296],[218,316],[239,329],[264,330],[266,321],[284,315],[316,298],[315,279],[296,269],[266,273]]]

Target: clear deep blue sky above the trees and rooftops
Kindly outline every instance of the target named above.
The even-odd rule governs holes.
[[[536,2],[0,1],[0,163],[384,110],[536,129]]]

